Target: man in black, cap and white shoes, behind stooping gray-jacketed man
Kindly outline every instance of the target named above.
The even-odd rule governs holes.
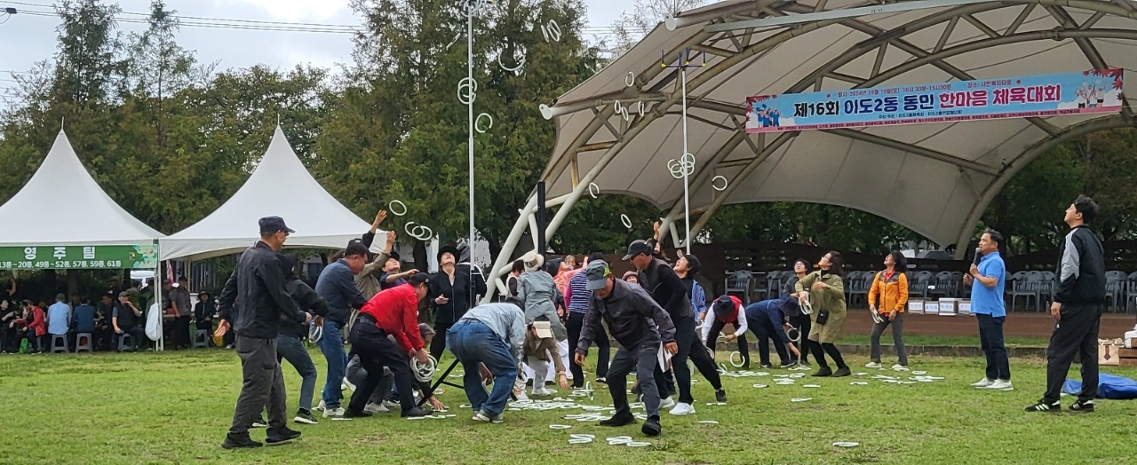
[[[679,344],[679,352],[671,359],[672,374],[675,379],[675,388],[679,390],[679,404],[671,397],[666,397],[661,408],[671,408],[673,415],[688,415],[695,413],[695,398],[691,397],[691,372],[687,369],[687,358],[690,357],[703,377],[711,383],[715,390],[715,399],[720,402],[727,401],[727,392],[722,390],[722,379],[719,376],[719,368],[714,365],[711,352],[703,347],[703,342],[695,333],[695,309],[691,307],[687,285],[679,279],[675,271],[653,256],[653,249],[647,241],[633,241],[628,246],[625,260],[631,260],[636,267],[639,284],[646,290],[655,302],[663,307],[671,316],[675,325],[675,343]],[[656,372],[656,384],[661,387],[666,379],[663,372],[666,367],[659,367]],[[639,387],[642,389],[644,383]],[[661,389],[662,390],[662,389]]]

